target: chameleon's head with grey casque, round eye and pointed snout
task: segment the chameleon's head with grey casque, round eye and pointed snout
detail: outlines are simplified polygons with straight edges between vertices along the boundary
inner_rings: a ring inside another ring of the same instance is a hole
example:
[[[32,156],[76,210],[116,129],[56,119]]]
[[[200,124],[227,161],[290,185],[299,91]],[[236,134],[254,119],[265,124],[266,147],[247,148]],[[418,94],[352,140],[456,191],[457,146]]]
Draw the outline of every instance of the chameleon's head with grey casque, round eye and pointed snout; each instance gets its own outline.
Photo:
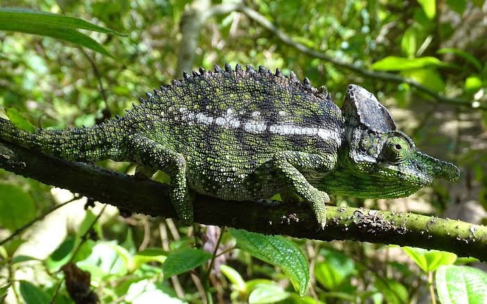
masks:
[[[421,153],[406,134],[396,130],[389,111],[375,96],[358,85],[349,85],[342,113],[346,121],[347,167],[361,186],[358,197],[408,196],[434,178],[455,181],[459,169]]]

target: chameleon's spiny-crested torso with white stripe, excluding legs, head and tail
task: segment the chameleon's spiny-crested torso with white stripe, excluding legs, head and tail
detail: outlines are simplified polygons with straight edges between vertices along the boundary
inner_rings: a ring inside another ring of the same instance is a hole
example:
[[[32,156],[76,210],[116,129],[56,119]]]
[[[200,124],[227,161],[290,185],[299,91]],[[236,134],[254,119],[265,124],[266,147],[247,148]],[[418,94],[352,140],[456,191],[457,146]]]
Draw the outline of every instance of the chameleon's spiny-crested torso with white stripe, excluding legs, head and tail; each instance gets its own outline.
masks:
[[[200,71],[148,94],[129,112],[147,118],[133,130],[184,155],[191,188],[223,199],[262,199],[281,185],[264,169],[276,151],[338,150],[343,118],[323,87],[263,67]]]

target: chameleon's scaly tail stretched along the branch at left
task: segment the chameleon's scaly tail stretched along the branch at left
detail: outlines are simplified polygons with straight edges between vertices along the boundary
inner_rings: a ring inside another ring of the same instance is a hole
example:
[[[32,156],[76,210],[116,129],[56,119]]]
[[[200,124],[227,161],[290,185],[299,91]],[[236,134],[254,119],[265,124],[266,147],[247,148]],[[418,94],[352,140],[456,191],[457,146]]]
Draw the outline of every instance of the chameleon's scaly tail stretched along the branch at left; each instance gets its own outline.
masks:
[[[0,118],[0,140],[66,160],[119,160],[122,155],[122,134],[122,130],[118,130],[113,122],[69,130],[38,128],[35,133],[30,133]]]

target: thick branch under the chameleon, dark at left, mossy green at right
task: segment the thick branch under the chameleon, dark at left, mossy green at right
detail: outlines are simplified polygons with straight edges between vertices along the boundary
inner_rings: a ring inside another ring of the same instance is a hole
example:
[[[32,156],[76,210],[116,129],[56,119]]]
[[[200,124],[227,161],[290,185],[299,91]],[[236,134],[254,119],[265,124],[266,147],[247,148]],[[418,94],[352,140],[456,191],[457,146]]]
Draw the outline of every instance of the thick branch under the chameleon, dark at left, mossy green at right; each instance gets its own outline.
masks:
[[[152,180],[134,178],[92,164],[60,160],[2,142],[0,168],[123,210],[176,217],[166,185]],[[327,228],[323,231],[317,227],[313,213],[306,205],[224,201],[204,195],[195,198],[195,221],[206,225],[323,241],[351,239],[415,246],[487,261],[486,226],[407,212],[343,207],[327,210]]]

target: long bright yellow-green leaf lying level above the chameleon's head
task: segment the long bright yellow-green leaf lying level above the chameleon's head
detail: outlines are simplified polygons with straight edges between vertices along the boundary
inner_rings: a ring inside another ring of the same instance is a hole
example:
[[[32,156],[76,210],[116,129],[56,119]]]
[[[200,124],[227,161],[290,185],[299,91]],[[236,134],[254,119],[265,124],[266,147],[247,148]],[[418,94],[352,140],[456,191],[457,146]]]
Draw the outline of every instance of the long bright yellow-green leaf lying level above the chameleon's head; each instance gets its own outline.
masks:
[[[438,67],[441,60],[435,57],[404,58],[387,56],[372,64],[372,69],[379,71],[404,71],[406,69],[418,69],[420,67]]]

